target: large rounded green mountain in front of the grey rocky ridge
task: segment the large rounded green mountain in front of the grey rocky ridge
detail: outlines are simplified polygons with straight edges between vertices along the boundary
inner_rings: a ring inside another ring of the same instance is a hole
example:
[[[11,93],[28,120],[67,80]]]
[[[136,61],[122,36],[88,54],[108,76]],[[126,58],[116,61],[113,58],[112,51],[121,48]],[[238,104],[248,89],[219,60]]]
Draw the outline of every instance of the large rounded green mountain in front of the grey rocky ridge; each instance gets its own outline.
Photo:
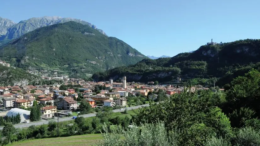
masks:
[[[0,58],[26,70],[55,69],[81,76],[146,57],[115,37],[70,21],[38,28],[1,46]]]

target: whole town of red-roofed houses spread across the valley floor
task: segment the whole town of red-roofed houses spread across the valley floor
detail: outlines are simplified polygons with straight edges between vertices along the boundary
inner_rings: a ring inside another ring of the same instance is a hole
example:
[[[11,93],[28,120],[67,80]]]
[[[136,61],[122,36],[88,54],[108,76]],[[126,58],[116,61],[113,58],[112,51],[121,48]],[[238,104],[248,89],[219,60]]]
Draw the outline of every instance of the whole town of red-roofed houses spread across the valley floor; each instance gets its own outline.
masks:
[[[174,87],[171,85],[153,86],[149,85],[127,83],[126,77],[123,78],[122,83],[113,82],[113,80],[106,82],[93,82],[93,81],[74,81],[70,84],[80,84],[79,88],[82,100],[87,101],[93,108],[97,105],[100,106],[127,106],[128,96],[145,96],[149,92],[158,91],[162,89],[166,95],[170,97],[175,93],[184,91],[184,87]],[[67,85],[65,83],[65,85]],[[105,90],[100,90],[98,94],[94,93],[95,86],[105,87]],[[0,106],[5,109],[20,108],[27,109],[33,106],[34,102],[43,104],[42,114],[45,117],[53,117],[57,113],[57,109],[75,110],[78,108],[79,103],[75,100],[78,98],[78,93],[74,89],[59,90],[59,85],[38,85],[38,86],[13,86],[13,87],[0,87]],[[191,87],[189,90],[208,90],[202,86]],[[223,89],[220,89],[223,90]],[[110,92],[109,92],[110,91]],[[111,92],[112,91],[112,92]],[[213,91],[217,92],[217,91]],[[148,97],[155,100],[158,95],[152,94]]]

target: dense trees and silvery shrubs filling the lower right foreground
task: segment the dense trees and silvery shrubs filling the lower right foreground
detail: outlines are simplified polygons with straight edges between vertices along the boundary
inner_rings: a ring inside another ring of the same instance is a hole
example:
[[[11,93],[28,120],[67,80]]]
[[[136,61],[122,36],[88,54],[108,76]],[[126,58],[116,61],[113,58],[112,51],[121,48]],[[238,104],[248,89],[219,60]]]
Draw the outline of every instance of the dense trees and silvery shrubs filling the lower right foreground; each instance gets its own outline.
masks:
[[[106,130],[103,145],[260,145],[260,72],[234,79],[224,99],[208,91],[175,94],[133,116],[133,126]],[[119,135],[125,140],[119,140]]]

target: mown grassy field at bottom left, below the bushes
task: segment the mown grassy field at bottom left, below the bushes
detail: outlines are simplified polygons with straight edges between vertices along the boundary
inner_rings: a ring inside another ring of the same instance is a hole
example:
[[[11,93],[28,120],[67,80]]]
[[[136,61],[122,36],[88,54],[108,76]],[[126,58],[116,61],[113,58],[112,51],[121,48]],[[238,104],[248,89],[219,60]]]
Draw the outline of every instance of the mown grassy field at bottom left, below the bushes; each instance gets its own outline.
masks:
[[[25,140],[8,144],[7,146],[82,146],[99,143],[101,139],[103,139],[101,134],[85,134],[70,137]]]

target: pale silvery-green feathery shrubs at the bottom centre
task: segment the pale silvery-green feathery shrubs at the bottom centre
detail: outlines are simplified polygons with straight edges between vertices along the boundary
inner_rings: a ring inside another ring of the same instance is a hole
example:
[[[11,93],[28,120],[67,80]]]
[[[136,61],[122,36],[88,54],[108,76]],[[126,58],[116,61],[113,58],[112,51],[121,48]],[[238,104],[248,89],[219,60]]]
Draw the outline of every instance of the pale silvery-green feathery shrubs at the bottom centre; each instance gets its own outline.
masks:
[[[129,145],[149,145],[149,146],[177,146],[177,136],[174,132],[169,133],[168,138],[167,131],[163,123],[156,124],[143,124],[141,127],[133,126],[123,132],[124,140],[121,140],[121,133],[119,130],[110,132],[106,125],[103,126],[104,138],[101,146],[129,146]],[[140,130],[141,129],[141,130]],[[118,132],[119,131],[119,132]]]

